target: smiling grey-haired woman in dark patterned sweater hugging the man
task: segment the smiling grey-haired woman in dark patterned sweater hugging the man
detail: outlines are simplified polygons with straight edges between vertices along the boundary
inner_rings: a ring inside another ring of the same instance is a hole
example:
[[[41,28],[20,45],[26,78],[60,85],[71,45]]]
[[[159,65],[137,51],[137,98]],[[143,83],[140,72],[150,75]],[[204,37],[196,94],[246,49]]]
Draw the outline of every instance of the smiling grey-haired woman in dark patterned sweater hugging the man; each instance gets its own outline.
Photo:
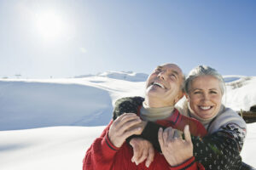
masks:
[[[173,129],[169,127],[164,132],[160,129],[158,133],[159,127],[162,126],[148,123],[140,137],[150,141],[155,148],[161,148],[168,162],[177,158],[186,160],[193,154],[195,160],[200,161],[206,169],[246,169],[239,155],[246,136],[246,123],[236,111],[222,105],[224,80],[221,75],[211,67],[200,65],[190,71],[184,91],[187,100],[177,109],[183,115],[199,120],[206,127],[207,136],[192,136],[193,145],[188,142],[189,146],[182,149],[177,147],[178,143],[184,143],[186,140],[175,138],[176,133]],[[117,111],[122,110],[119,108]],[[157,138],[160,144],[156,142]],[[192,154],[180,154],[180,150],[188,150],[189,147],[192,147]],[[177,153],[178,156],[173,153]]]

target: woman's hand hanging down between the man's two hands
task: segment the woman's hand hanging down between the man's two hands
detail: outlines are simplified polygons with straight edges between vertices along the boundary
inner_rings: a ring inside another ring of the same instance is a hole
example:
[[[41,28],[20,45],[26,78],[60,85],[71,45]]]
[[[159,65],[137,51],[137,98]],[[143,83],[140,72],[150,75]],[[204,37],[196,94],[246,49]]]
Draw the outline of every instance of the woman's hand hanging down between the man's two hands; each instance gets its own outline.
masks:
[[[141,138],[133,138],[130,141],[130,144],[133,148],[133,156],[131,158],[132,162],[135,162],[136,165],[143,162],[145,159],[146,167],[149,167],[151,162],[154,160],[154,147],[148,142],[148,140]]]

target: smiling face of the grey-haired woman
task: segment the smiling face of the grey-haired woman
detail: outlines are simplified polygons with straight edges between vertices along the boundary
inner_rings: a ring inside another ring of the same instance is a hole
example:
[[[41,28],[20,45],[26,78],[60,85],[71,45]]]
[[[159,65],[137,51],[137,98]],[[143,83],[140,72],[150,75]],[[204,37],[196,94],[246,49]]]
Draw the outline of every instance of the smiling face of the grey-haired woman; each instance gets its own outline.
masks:
[[[195,115],[209,119],[218,113],[222,95],[217,78],[201,76],[191,82],[189,95],[186,96]]]

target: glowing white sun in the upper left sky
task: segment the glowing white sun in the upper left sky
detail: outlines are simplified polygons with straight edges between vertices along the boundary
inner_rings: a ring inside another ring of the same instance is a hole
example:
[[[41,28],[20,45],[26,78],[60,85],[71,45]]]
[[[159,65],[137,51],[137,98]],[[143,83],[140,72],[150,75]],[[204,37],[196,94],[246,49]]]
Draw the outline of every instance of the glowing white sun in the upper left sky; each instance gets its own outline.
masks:
[[[54,41],[65,35],[67,26],[60,14],[53,11],[36,14],[38,35],[46,41]]]

